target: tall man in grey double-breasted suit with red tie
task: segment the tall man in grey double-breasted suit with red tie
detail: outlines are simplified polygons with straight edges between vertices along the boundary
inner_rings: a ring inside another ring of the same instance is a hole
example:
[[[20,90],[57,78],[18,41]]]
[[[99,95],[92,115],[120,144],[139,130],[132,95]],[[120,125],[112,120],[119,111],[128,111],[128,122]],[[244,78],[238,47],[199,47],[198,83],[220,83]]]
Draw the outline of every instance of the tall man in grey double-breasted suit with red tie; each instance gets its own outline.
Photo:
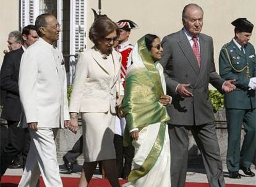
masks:
[[[191,130],[203,156],[210,186],[225,186],[215,118],[208,98],[209,82],[216,89],[231,92],[235,86],[215,71],[213,40],[201,34],[203,10],[188,4],[182,12],[184,28],[163,38],[161,65],[166,76],[167,94],[173,97],[168,107],[171,117],[171,186],[184,187]]]

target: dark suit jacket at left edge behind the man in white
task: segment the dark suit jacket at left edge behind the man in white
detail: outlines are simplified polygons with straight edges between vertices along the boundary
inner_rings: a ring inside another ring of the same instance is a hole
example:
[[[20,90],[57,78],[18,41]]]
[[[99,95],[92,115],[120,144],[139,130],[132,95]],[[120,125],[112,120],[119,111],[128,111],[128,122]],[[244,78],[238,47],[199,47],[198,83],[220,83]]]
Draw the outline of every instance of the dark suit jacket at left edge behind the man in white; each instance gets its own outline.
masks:
[[[23,49],[13,50],[4,56],[0,71],[2,114],[9,121],[19,121],[22,107],[19,97],[19,70]]]

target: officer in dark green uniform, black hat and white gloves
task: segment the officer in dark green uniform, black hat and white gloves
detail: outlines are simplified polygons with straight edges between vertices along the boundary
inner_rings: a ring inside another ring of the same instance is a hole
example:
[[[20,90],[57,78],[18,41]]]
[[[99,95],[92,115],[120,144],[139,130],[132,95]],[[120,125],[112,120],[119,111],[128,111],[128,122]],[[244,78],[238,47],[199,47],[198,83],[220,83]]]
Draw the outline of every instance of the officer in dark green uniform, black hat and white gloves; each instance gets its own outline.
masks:
[[[254,177],[250,165],[256,148],[256,58],[254,46],[249,43],[254,25],[246,18],[237,18],[231,24],[235,26],[234,38],[222,47],[219,58],[221,77],[236,79],[237,87],[224,95],[228,121],[226,163],[230,178],[241,178],[239,169]],[[240,150],[242,124],[246,134]]]

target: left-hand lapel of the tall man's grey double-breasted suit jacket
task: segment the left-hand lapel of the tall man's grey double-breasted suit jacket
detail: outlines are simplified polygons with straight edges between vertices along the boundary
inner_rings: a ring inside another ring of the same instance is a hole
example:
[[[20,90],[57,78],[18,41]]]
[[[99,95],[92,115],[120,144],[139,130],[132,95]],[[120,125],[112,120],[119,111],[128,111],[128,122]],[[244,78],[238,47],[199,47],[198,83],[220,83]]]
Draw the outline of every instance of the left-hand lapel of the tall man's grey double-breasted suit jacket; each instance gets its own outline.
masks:
[[[199,73],[199,67],[197,63],[197,58],[195,58],[194,52],[192,50],[192,47],[190,46],[190,43],[187,39],[186,34],[183,30],[179,31],[179,41],[178,41],[179,47],[181,47],[181,50],[185,57],[187,58],[187,61],[192,66],[193,70],[196,74]]]

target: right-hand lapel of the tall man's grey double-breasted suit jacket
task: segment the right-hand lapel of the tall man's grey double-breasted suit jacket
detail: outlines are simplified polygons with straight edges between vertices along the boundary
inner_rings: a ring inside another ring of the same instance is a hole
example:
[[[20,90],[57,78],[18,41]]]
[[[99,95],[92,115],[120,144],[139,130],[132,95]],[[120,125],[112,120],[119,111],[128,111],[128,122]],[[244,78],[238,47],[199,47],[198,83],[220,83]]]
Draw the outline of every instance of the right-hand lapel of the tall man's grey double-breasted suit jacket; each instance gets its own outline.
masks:
[[[197,78],[197,83],[195,86],[197,86],[198,81],[202,79],[202,76],[205,73],[205,70],[207,70],[207,56],[211,55],[210,51],[207,51],[207,41],[205,38],[202,37],[202,34],[199,34],[199,44],[200,44],[200,55],[201,55],[201,64],[200,64],[200,69],[199,69],[199,75]]]

